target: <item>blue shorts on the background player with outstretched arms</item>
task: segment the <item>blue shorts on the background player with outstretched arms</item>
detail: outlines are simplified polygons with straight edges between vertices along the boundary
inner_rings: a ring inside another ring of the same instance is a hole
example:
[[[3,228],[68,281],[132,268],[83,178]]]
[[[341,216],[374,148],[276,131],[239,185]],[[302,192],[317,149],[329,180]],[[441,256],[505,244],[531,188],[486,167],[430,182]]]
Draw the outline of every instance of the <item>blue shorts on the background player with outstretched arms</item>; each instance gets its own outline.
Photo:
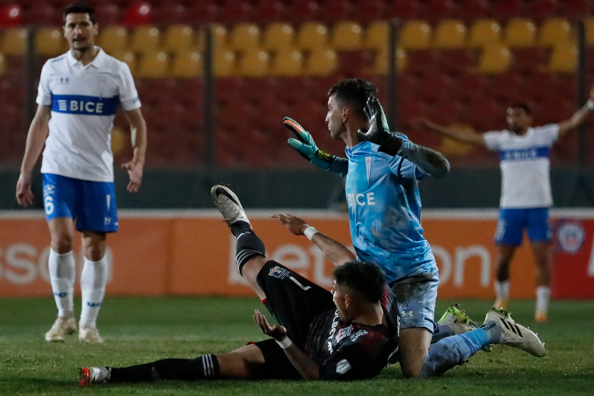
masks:
[[[495,243],[520,246],[524,229],[528,232],[530,242],[551,242],[549,208],[501,209]]]

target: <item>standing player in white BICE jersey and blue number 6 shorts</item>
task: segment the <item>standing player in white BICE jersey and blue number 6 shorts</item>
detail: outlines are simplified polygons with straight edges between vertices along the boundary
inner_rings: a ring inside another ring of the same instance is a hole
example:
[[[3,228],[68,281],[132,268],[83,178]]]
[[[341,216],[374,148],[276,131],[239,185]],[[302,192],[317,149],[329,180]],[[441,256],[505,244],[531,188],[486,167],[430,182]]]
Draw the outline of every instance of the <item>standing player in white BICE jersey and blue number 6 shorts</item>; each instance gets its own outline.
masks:
[[[106,233],[118,230],[110,147],[113,118],[122,107],[131,126],[134,156],[128,191],[136,192],[143,176],[146,123],[128,66],[94,45],[99,26],[93,8],[74,4],[64,12],[64,37],[70,49],[43,66],[37,112],[31,122],[17,201],[33,202],[31,172],[43,150],[43,202],[51,236],[49,275],[58,318],[47,341],[64,341],[77,330],[74,320],[74,229],[82,234],[83,299],[78,338],[101,343],[96,321],[108,280]],[[135,138],[134,138],[135,135]]]

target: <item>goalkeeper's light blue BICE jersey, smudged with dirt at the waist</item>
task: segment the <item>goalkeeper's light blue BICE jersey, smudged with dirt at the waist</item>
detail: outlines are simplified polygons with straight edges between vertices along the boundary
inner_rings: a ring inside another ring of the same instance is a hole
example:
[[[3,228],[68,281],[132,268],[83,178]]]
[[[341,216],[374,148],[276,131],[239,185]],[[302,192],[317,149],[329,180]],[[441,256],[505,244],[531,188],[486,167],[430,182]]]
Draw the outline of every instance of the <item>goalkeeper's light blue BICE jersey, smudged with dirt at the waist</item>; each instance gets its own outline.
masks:
[[[391,284],[437,265],[421,227],[418,180],[426,175],[411,161],[378,148],[368,141],[346,148],[345,192],[355,251],[383,268]]]

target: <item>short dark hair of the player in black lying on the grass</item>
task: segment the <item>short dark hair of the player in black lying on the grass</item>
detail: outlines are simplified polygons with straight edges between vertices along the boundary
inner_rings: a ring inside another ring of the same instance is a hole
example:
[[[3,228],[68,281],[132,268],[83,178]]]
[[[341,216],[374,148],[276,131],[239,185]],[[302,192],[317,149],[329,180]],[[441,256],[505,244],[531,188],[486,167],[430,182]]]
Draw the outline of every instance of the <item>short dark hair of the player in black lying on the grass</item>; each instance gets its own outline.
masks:
[[[339,286],[347,286],[361,293],[372,303],[380,301],[386,290],[386,280],[380,268],[370,262],[349,261],[334,268],[332,275]]]

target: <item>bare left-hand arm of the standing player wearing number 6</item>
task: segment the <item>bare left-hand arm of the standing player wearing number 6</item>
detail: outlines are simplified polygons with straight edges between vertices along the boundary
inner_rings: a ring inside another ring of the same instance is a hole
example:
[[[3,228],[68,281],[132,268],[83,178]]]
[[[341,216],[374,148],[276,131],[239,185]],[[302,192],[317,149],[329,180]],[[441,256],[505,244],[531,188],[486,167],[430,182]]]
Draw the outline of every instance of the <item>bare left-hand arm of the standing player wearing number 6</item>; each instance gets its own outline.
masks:
[[[43,142],[48,137],[49,119],[51,116],[52,106],[39,104],[31,126],[29,126],[25,154],[23,156],[23,163],[21,163],[21,173],[18,176],[17,182],[17,202],[23,207],[33,204],[34,195],[31,192],[31,172],[37,159],[39,159]]]

